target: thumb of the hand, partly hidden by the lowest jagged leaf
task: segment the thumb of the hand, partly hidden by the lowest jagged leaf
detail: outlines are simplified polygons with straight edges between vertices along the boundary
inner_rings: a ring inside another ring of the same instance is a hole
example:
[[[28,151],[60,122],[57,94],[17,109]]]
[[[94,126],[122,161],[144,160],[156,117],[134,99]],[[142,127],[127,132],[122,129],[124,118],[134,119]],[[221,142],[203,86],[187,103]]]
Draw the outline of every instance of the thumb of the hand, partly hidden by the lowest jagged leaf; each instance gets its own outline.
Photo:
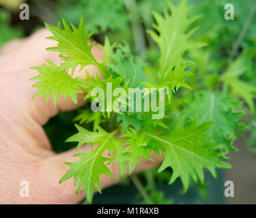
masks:
[[[83,146],[80,152],[89,151],[90,146]],[[68,181],[59,184],[60,178],[69,169],[69,167],[63,164],[63,162],[74,162],[79,160],[79,157],[72,157],[74,153],[76,153],[76,149],[72,149],[70,151],[66,151],[65,153],[50,157],[42,163],[42,168],[40,168],[40,170],[43,170],[43,172],[40,172],[39,175],[44,175],[43,178],[41,178],[43,180],[42,183],[47,183],[44,184],[44,186],[47,187],[44,192],[49,192],[49,190],[51,190],[51,197],[49,196],[49,198],[42,203],[76,204],[85,198],[85,192],[77,194],[75,193],[76,187],[74,186],[73,177],[68,179]],[[155,161],[149,161],[147,159],[141,158],[141,164],[134,168],[134,173],[154,168],[160,164],[160,158],[156,157],[156,155],[152,155],[152,158],[154,158]],[[108,167],[111,170],[114,178],[110,178],[109,176],[103,174],[103,176],[100,178],[100,186],[102,189],[109,187],[110,185],[114,185],[120,181],[119,168],[117,163],[112,163]],[[128,176],[127,173],[126,176]]]

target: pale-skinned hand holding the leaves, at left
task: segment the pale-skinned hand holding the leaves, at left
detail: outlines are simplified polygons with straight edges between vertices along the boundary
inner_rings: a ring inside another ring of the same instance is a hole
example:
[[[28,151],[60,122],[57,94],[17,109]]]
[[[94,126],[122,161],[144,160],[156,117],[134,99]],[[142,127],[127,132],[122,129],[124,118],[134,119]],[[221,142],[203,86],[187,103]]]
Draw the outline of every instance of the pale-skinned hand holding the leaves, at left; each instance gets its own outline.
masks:
[[[42,125],[59,111],[75,110],[83,105],[82,95],[76,105],[70,99],[59,99],[57,107],[50,98],[46,104],[44,96],[33,98],[37,89],[30,78],[38,72],[30,67],[46,63],[49,59],[61,63],[58,53],[46,51],[56,42],[46,40],[50,36],[46,29],[23,40],[9,42],[0,53],[0,204],[76,204],[85,198],[85,193],[75,193],[73,178],[59,184],[59,179],[69,169],[64,162],[77,161],[72,157],[76,149],[56,154],[51,150]],[[94,56],[103,59],[102,50],[94,46]],[[87,66],[94,74],[96,68]],[[76,71],[75,76],[78,76]],[[79,73],[79,76],[83,72]],[[64,142],[63,142],[64,143]],[[80,152],[89,152],[82,146]],[[156,161],[141,159],[135,172],[153,168]],[[109,165],[114,178],[102,176],[102,189],[118,183],[119,170],[116,163]],[[20,181],[29,182],[29,197],[20,197]]]

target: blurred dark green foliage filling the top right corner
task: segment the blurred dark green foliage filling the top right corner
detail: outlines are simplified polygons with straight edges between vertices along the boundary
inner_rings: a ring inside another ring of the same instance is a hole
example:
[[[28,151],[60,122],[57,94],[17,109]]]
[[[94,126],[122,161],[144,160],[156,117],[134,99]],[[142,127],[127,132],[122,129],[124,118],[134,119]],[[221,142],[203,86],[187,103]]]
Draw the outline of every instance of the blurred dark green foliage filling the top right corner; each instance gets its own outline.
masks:
[[[248,0],[246,3],[243,3],[243,1],[240,0],[193,0],[193,2],[197,3],[197,6],[193,7],[192,13],[195,15],[201,14],[201,16],[203,16],[203,19],[199,19],[195,22],[195,26],[199,25],[201,27],[199,31],[195,33],[195,37],[208,41],[215,52],[223,53],[223,50],[225,50],[225,52],[231,52],[231,45],[235,44],[255,1]],[[223,10],[223,7],[227,3],[233,4],[236,11],[232,22],[227,22],[227,20],[223,19],[223,12],[226,11]],[[253,46],[251,42],[255,40],[255,24],[256,18],[253,16],[251,25],[244,35],[242,46]]]

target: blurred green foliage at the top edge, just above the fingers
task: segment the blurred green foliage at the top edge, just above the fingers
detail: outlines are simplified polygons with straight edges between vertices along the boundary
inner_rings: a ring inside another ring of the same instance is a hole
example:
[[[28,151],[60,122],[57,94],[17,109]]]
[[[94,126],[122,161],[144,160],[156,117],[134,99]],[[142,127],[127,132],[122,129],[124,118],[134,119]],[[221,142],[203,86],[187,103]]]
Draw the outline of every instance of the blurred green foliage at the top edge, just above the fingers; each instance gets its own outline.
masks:
[[[123,1],[80,0],[74,3],[73,0],[68,0],[66,3],[68,4],[59,9],[59,17],[61,18],[76,22],[83,15],[87,27],[94,33],[104,33],[108,30],[126,31],[128,14],[125,12]],[[97,16],[95,12],[97,12]]]

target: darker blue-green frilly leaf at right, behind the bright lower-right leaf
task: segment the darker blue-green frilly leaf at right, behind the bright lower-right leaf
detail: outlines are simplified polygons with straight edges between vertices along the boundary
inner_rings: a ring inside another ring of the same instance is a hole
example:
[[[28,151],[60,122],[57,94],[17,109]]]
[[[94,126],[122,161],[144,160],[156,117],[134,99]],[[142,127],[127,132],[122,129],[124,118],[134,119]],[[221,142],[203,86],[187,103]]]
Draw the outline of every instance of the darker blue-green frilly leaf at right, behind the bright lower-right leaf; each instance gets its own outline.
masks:
[[[207,134],[217,143],[224,144],[229,151],[236,151],[232,146],[236,140],[236,130],[244,129],[240,125],[242,112],[234,112],[240,108],[241,102],[228,95],[224,91],[198,91],[189,97],[190,102],[185,105],[183,114],[190,120],[195,119],[199,124],[213,121],[213,125],[208,129]]]

